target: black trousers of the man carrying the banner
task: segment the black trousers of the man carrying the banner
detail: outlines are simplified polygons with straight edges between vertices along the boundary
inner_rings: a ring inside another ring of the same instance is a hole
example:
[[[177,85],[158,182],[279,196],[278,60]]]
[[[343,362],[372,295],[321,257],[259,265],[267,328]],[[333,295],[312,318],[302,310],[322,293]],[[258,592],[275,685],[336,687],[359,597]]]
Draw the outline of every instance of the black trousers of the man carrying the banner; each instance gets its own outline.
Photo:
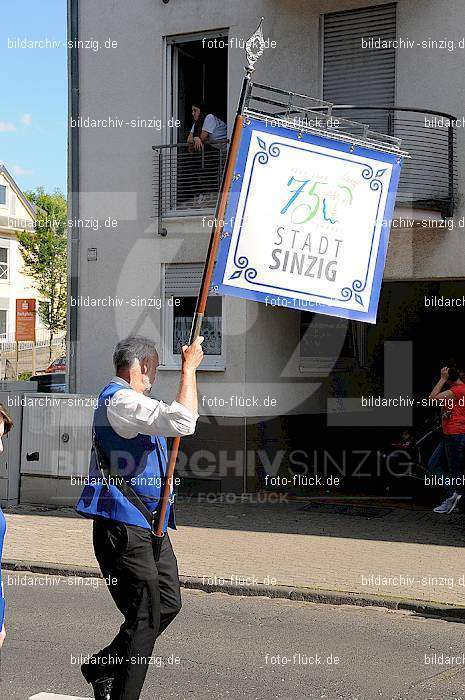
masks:
[[[138,700],[155,640],[181,609],[176,557],[165,534],[155,563],[150,531],[115,520],[94,520],[93,541],[124,622],[82,672],[88,682],[112,676],[112,700]]]

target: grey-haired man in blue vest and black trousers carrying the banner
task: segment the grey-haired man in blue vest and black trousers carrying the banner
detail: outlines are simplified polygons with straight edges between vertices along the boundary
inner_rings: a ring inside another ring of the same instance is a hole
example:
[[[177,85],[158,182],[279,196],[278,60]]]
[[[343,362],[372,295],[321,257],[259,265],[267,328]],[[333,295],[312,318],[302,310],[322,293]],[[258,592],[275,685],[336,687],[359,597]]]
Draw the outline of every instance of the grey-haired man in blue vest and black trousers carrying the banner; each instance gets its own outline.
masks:
[[[182,348],[179,390],[167,404],[148,396],[157,374],[155,343],[140,336],[122,340],[113,354],[116,374],[98,398],[89,477],[76,510],[94,521],[95,556],[124,616],[113,641],[81,666],[99,700],[140,697],[155,640],[181,609],[167,533],[175,528],[173,491],[160,551],[152,533],[166,473],[165,438],[195,431],[202,342],[199,337]]]

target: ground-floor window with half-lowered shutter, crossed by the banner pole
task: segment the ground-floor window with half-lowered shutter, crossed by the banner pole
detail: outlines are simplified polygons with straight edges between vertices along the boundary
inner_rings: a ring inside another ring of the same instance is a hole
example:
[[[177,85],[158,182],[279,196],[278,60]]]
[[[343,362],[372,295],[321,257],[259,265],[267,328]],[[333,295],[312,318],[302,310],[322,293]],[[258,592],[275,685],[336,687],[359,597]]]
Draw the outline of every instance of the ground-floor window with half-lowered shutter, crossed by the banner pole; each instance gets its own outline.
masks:
[[[202,272],[203,265],[198,263],[165,265],[163,365],[166,367],[181,365],[181,348],[189,340]],[[211,294],[207,300],[202,323],[203,369],[224,369],[222,303],[218,294]]]

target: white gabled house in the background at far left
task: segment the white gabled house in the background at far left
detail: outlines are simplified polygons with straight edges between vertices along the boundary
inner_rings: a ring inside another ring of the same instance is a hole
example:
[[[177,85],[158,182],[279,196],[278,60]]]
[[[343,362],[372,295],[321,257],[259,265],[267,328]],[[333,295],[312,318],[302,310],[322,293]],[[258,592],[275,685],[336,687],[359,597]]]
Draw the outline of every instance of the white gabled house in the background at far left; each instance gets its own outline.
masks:
[[[14,340],[16,299],[36,299],[40,294],[33,280],[23,273],[23,258],[16,231],[34,228],[36,208],[0,164],[0,340]],[[38,314],[37,331],[43,329]]]

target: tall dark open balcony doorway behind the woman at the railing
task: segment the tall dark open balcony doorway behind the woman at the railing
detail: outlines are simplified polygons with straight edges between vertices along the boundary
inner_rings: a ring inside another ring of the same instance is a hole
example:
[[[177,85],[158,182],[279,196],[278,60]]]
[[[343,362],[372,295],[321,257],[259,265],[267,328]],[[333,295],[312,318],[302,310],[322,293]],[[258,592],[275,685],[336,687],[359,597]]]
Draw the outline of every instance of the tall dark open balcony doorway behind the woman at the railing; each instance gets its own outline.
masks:
[[[160,152],[159,207],[164,211],[213,209],[226,161],[228,40],[224,31],[166,40],[166,123],[178,120]],[[187,139],[194,127],[192,105],[215,116],[215,142],[193,151]]]

